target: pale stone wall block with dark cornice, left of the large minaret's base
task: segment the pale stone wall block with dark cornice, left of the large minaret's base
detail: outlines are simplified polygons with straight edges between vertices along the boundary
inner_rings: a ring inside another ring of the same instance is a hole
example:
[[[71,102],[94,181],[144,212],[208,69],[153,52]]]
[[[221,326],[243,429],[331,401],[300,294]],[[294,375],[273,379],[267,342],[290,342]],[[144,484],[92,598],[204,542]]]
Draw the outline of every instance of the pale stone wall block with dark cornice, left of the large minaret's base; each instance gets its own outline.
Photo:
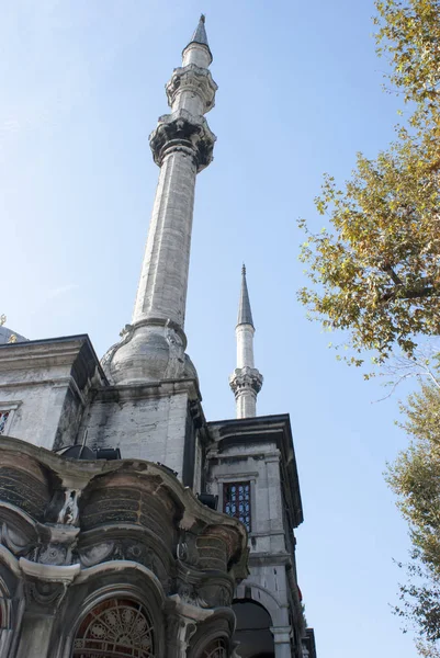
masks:
[[[75,443],[92,386],[102,382],[88,337],[1,345],[0,405],[8,434],[57,450]]]

